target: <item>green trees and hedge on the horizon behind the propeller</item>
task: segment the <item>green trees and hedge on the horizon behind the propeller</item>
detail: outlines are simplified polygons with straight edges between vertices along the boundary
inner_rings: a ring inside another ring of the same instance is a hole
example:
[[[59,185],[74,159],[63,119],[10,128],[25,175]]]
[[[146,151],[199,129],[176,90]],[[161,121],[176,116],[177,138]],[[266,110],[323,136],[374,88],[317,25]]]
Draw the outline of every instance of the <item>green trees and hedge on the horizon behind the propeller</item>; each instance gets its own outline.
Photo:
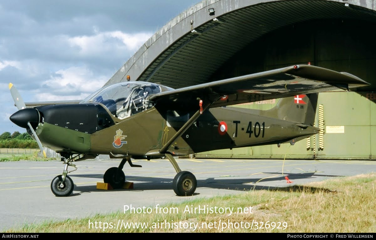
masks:
[[[0,135],[0,148],[38,148],[38,143],[28,133],[4,132]]]

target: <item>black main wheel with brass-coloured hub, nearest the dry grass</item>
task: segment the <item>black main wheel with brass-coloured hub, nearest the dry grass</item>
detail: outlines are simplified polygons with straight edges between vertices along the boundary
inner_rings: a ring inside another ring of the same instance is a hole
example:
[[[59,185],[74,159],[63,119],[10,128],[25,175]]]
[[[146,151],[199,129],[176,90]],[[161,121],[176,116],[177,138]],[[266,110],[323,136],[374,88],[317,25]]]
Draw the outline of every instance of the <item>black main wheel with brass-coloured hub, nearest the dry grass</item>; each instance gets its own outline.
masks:
[[[196,191],[196,177],[188,171],[181,171],[174,177],[172,182],[174,192],[178,196],[191,196]]]

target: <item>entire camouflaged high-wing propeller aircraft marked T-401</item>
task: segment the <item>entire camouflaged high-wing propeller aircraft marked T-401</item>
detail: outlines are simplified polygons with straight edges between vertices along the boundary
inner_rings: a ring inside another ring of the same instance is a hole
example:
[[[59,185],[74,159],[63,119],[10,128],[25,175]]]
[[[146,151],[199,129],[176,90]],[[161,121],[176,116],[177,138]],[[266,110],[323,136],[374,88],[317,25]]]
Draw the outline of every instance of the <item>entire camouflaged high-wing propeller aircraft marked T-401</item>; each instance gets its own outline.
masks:
[[[29,103],[9,89],[18,111],[10,120],[64,161],[64,171],[51,182],[56,196],[68,196],[73,162],[107,154],[121,158],[109,168],[105,183],[114,189],[125,182],[123,166],[133,159],[166,157],[177,174],[173,190],[192,195],[196,177],[181,171],[174,157],[215,149],[290,143],[319,132],[313,127],[318,92],[366,86],[346,72],[312,65],[294,65],[240,77],[172,89],[151,82],[120,82],[105,86],[80,102]],[[228,107],[281,98],[270,110]]]

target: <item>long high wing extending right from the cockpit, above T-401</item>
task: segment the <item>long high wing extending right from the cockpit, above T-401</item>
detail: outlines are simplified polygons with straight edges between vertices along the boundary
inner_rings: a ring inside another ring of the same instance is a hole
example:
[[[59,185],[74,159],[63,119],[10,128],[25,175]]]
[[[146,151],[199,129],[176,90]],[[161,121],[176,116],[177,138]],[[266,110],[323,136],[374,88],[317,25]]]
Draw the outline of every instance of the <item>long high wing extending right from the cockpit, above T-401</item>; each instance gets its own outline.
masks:
[[[370,85],[347,72],[312,65],[294,65],[240,77],[161,92],[150,97],[156,107],[197,109],[199,100],[209,107],[284,98]]]

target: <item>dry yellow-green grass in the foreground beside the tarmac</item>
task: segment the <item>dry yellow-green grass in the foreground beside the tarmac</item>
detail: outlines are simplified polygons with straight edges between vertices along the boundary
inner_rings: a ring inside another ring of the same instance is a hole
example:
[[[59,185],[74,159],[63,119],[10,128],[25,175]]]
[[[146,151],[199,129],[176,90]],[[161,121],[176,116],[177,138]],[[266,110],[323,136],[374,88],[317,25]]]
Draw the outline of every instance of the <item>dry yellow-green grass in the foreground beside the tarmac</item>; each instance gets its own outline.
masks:
[[[156,206],[150,206],[152,210],[150,214],[128,212],[97,214],[77,220],[24,225],[22,228],[8,229],[6,232],[371,233],[376,231],[375,194],[376,174],[362,174],[304,186],[251,190],[238,195],[171,203],[159,206],[161,213],[156,210]],[[197,209],[195,213],[194,208],[199,206],[209,208],[209,213],[202,211],[198,213]],[[232,208],[233,211],[231,214],[229,211],[215,213],[215,207],[217,212],[219,209],[224,211],[226,208]],[[214,212],[212,213],[211,210]],[[122,221],[123,224],[118,224]],[[253,228],[250,229],[252,222]],[[140,223],[144,226],[125,226],[126,223]],[[103,229],[103,227],[107,228]]]

